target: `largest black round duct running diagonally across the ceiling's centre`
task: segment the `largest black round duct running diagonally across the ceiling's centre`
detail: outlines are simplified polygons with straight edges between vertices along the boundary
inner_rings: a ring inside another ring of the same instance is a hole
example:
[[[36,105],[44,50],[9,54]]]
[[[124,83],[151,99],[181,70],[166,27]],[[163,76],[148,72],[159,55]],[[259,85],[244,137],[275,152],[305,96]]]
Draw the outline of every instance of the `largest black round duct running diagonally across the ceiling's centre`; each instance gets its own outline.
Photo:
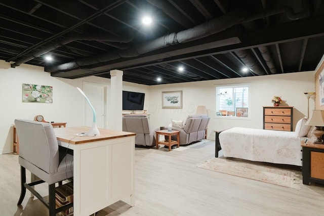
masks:
[[[89,58],[78,59],[72,62],[61,64],[58,66],[46,68],[48,72],[56,72],[58,70],[70,70],[78,66],[97,64],[107,62],[118,58],[136,57],[144,53],[148,53],[161,48],[177,45],[192,40],[207,37],[209,35],[224,31],[225,29],[238,24],[246,17],[246,11],[242,9],[234,9],[219,18],[212,19],[203,24],[180,31],[178,33],[171,33],[165,36],[153,39],[145,44],[135,46],[125,51],[114,51],[111,53],[101,54]]]

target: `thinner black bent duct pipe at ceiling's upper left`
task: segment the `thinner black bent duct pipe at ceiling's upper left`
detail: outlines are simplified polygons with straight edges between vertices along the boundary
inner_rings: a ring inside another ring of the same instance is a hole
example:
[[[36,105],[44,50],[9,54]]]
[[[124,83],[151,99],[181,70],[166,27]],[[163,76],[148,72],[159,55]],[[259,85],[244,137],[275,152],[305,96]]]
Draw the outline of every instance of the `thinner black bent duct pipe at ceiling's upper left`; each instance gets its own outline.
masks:
[[[22,59],[16,61],[15,63],[12,63],[11,67],[15,68],[25,62],[32,60],[33,58],[36,58],[36,57],[41,56],[45,53],[48,53],[52,50],[55,50],[58,47],[62,47],[66,44],[69,44],[70,42],[75,41],[75,40],[98,40],[98,41],[125,42],[126,43],[126,42],[132,41],[132,39],[133,39],[133,36],[131,36],[131,34],[130,34],[130,36],[126,36],[126,37],[115,36],[115,35],[104,35],[104,34],[101,34],[101,35],[73,34],[68,37],[58,39],[55,42],[53,42],[53,44],[31,54],[31,56],[27,56],[25,58],[22,58]]]

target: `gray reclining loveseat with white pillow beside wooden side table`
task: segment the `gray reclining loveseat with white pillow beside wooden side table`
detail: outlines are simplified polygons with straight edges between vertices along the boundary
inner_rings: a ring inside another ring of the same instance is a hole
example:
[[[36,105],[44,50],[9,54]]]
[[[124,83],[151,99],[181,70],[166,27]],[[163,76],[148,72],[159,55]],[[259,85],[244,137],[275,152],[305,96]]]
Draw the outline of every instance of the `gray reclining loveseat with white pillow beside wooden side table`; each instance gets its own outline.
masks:
[[[211,117],[208,115],[189,115],[184,123],[172,120],[172,130],[180,131],[180,145],[205,139],[210,119]],[[177,140],[176,136],[173,136],[172,139]]]

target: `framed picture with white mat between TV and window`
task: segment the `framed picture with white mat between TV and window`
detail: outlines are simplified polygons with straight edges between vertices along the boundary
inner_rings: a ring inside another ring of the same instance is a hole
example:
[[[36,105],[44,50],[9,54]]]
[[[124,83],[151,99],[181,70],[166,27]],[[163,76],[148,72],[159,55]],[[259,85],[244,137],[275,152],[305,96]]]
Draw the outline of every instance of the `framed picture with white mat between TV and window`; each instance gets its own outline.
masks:
[[[162,109],[182,109],[182,91],[162,92]]]

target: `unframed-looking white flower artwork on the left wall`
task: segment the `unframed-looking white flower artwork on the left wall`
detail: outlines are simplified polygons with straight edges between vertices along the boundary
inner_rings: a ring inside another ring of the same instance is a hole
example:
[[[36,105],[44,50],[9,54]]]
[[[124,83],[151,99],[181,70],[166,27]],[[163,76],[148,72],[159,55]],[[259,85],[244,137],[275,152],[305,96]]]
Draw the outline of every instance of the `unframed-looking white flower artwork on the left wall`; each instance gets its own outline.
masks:
[[[22,84],[22,102],[53,103],[53,87],[49,85]]]

